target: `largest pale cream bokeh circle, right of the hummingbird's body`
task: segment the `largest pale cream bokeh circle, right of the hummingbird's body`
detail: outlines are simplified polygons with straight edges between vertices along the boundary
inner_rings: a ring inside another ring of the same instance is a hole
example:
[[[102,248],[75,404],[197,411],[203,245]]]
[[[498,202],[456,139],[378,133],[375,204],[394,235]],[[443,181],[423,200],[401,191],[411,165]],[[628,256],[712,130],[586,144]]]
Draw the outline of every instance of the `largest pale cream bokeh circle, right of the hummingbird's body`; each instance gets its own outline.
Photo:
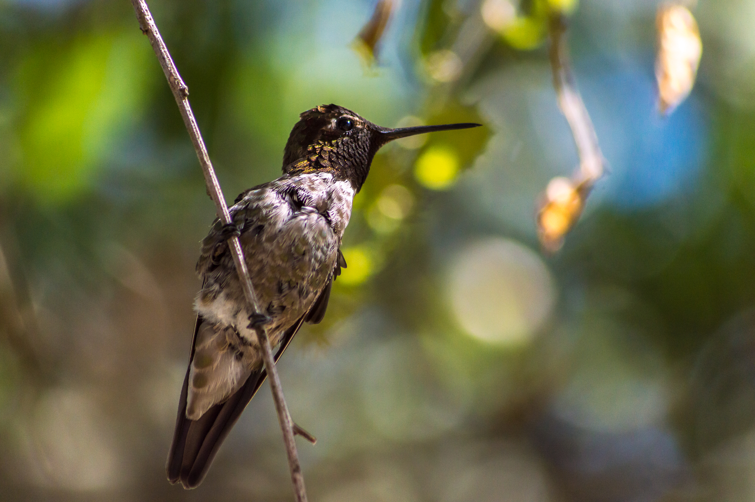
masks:
[[[451,261],[448,295],[464,331],[489,343],[526,343],[550,316],[556,288],[543,260],[510,239],[473,242]]]

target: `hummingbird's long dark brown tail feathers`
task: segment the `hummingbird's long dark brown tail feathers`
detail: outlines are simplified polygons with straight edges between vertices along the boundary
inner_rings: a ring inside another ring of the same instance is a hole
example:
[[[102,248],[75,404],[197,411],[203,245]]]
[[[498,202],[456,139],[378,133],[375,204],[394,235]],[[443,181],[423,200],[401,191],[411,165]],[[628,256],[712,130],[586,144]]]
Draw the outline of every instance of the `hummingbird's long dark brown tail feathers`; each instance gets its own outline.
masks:
[[[283,351],[291,342],[302,322],[302,316],[291,328],[285,331],[281,339],[280,347],[275,355],[276,362]],[[202,317],[197,316],[194,328],[194,339],[190,356],[189,369],[186,370],[186,378],[183,380],[180,400],[178,402],[178,416],[176,418],[176,430],[173,436],[171,451],[168,453],[168,463],[165,470],[168,473],[168,481],[172,484],[181,482],[183,488],[196,488],[205,479],[205,475],[217,454],[217,448],[226,439],[231,428],[239,420],[239,417],[249,404],[251,398],[257,393],[267,377],[267,371],[260,368],[253,371],[244,385],[233,393],[226,401],[212,406],[199,417],[199,420],[186,418],[186,397],[188,396],[189,372],[191,360],[194,357],[194,345],[196,335],[202,325]]]

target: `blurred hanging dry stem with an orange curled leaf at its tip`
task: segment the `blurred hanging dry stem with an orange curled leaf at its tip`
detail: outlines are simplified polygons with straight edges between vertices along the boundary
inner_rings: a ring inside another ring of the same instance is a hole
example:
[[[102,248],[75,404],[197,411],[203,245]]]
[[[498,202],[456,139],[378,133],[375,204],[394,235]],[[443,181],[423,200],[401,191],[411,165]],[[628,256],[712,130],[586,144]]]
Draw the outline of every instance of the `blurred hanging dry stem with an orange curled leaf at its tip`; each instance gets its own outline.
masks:
[[[572,128],[579,156],[579,171],[571,180],[555,177],[548,183],[538,210],[538,234],[547,251],[557,251],[566,233],[579,219],[590,190],[605,171],[605,162],[598,144],[590,114],[577,90],[569,65],[569,48],[565,43],[565,16],[550,14],[550,67],[553,88],[558,95],[559,108]]]

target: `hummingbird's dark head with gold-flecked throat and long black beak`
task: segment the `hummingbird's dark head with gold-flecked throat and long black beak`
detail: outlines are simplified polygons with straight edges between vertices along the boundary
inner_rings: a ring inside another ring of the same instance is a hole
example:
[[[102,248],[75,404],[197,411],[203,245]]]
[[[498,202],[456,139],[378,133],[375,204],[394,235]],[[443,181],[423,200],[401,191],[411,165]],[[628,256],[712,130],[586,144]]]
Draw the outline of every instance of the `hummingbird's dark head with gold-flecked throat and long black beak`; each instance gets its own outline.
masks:
[[[422,125],[390,129],[334,104],[320,105],[299,115],[283,153],[287,174],[327,171],[337,179],[349,180],[359,192],[367,179],[378,149],[400,137],[433,131],[474,128],[479,124]]]

